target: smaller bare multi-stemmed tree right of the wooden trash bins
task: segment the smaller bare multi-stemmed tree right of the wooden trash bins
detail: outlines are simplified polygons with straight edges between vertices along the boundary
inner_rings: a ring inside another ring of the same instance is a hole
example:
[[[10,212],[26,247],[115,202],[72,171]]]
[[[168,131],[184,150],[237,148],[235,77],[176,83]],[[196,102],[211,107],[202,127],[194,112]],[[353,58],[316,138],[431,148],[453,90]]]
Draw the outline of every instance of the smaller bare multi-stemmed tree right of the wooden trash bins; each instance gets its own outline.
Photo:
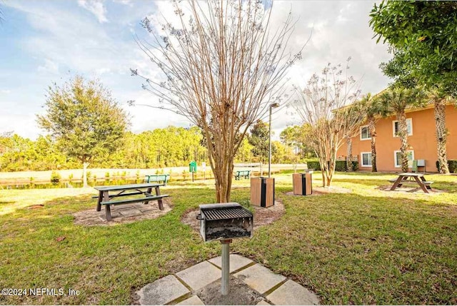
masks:
[[[348,58],[350,61],[351,58]],[[330,186],[335,173],[336,151],[346,139],[358,132],[365,113],[362,105],[353,105],[360,95],[358,83],[343,71],[341,64],[323,68],[316,73],[304,90],[298,90],[294,104],[298,115],[311,126],[310,145],[318,155],[322,170],[322,184]]]

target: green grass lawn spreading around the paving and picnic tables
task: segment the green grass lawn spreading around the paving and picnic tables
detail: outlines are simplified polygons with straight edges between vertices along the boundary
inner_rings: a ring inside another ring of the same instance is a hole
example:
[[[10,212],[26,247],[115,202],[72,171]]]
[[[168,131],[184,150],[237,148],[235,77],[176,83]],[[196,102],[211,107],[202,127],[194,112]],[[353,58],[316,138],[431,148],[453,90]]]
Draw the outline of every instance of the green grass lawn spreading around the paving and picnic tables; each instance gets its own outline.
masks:
[[[320,176],[314,173],[314,185]],[[305,285],[324,304],[456,304],[457,177],[427,175],[446,191],[429,195],[378,190],[388,178],[338,173],[333,184],[351,193],[300,197],[285,194],[291,174],[276,175],[286,214],[231,249]],[[109,227],[74,225],[71,213],[95,209],[94,189],[0,190],[0,289],[80,292],[0,295],[0,304],[129,304],[147,283],[219,255],[219,243],[203,243],[180,222],[186,210],[214,202],[213,184],[169,185],[170,213]],[[248,180],[234,184],[231,200],[246,203]],[[36,204],[44,207],[27,208]]]

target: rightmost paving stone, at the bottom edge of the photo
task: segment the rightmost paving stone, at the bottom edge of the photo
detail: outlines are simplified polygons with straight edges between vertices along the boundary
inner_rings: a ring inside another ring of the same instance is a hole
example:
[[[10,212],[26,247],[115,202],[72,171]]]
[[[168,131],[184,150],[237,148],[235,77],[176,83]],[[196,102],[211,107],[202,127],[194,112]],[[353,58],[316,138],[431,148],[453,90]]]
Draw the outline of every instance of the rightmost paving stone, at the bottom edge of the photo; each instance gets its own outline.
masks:
[[[266,298],[275,305],[319,305],[317,295],[293,280],[284,282]]]

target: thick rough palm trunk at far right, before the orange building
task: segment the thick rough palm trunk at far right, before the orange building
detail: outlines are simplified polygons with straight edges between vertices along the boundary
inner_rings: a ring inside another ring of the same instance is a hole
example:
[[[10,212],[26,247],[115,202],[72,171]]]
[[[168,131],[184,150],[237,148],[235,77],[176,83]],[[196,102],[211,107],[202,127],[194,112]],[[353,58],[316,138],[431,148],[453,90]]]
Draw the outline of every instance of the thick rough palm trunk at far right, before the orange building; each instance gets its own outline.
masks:
[[[446,152],[446,100],[435,99],[436,148],[438,150],[438,171],[448,174],[448,157]]]

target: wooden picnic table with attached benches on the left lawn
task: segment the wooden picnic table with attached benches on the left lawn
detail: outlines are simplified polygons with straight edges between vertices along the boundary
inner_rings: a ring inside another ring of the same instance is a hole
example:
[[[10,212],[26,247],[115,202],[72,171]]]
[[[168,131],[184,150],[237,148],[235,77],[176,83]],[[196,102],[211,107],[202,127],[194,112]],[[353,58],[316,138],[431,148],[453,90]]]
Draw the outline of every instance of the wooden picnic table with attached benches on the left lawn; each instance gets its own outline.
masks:
[[[164,203],[162,198],[166,198],[169,195],[161,195],[160,186],[164,184],[159,183],[141,183],[141,184],[129,184],[129,185],[110,185],[110,186],[96,186],[94,187],[99,191],[97,200],[97,211],[101,210],[101,205],[105,206],[106,220],[111,220],[111,208],[110,205],[121,205],[129,203],[149,203],[151,200],[157,200],[159,203],[159,209],[164,210]],[[156,194],[152,194],[154,188]],[[111,194],[110,194],[111,193]],[[114,198],[131,196],[131,195],[144,195],[139,198],[129,198],[126,200],[112,200]]]

